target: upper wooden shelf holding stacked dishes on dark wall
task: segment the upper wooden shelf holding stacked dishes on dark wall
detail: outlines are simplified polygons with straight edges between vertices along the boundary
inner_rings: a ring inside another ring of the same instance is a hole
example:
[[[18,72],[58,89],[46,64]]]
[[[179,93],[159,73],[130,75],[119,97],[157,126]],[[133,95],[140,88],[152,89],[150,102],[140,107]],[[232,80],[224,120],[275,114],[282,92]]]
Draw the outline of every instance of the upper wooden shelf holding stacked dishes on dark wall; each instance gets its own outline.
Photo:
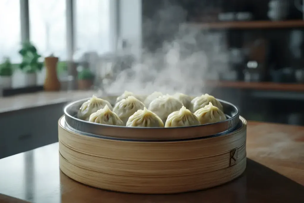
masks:
[[[190,26],[196,26],[203,29],[257,29],[257,28],[290,28],[304,27],[303,20],[287,21],[235,21],[235,22],[214,22],[214,23],[187,23]]]

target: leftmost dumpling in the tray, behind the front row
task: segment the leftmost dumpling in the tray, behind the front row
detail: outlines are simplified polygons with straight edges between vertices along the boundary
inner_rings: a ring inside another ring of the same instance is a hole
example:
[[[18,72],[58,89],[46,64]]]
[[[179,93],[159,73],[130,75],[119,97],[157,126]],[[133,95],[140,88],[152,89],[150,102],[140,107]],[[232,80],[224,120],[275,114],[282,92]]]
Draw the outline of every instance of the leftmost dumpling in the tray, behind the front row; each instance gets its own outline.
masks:
[[[88,121],[92,113],[95,113],[97,110],[102,109],[105,107],[105,105],[108,105],[109,109],[112,110],[112,106],[108,101],[100,99],[93,95],[91,99],[81,105],[78,110],[77,117],[81,120]]]

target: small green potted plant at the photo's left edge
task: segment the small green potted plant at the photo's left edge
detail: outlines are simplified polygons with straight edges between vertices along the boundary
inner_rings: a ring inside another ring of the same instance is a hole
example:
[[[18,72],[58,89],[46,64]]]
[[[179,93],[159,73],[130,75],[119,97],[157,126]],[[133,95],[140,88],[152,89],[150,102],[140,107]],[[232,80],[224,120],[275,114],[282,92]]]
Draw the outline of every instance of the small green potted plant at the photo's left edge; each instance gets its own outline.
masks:
[[[13,67],[9,58],[4,58],[0,64],[0,86],[2,88],[12,87]]]

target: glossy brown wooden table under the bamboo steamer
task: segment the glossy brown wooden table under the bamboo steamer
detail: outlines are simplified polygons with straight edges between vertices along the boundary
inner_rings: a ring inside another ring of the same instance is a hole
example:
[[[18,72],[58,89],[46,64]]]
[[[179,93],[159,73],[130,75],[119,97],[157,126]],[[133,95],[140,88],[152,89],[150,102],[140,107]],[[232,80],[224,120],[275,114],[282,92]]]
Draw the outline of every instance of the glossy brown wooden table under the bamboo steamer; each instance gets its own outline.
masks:
[[[303,185],[304,127],[258,122],[248,122],[245,173],[205,191],[143,195],[88,187],[60,172],[58,143],[0,160],[0,202],[303,203]]]

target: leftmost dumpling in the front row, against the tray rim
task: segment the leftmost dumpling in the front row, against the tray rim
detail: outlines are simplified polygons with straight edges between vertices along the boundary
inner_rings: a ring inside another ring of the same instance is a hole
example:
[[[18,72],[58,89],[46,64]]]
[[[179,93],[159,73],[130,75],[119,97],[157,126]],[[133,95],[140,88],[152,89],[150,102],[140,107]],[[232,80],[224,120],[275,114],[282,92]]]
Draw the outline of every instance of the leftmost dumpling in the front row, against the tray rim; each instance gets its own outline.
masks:
[[[119,125],[123,126],[123,121],[110,110],[108,105],[105,105],[103,109],[99,109],[95,113],[91,114],[89,118],[90,122],[107,124],[107,125]]]

